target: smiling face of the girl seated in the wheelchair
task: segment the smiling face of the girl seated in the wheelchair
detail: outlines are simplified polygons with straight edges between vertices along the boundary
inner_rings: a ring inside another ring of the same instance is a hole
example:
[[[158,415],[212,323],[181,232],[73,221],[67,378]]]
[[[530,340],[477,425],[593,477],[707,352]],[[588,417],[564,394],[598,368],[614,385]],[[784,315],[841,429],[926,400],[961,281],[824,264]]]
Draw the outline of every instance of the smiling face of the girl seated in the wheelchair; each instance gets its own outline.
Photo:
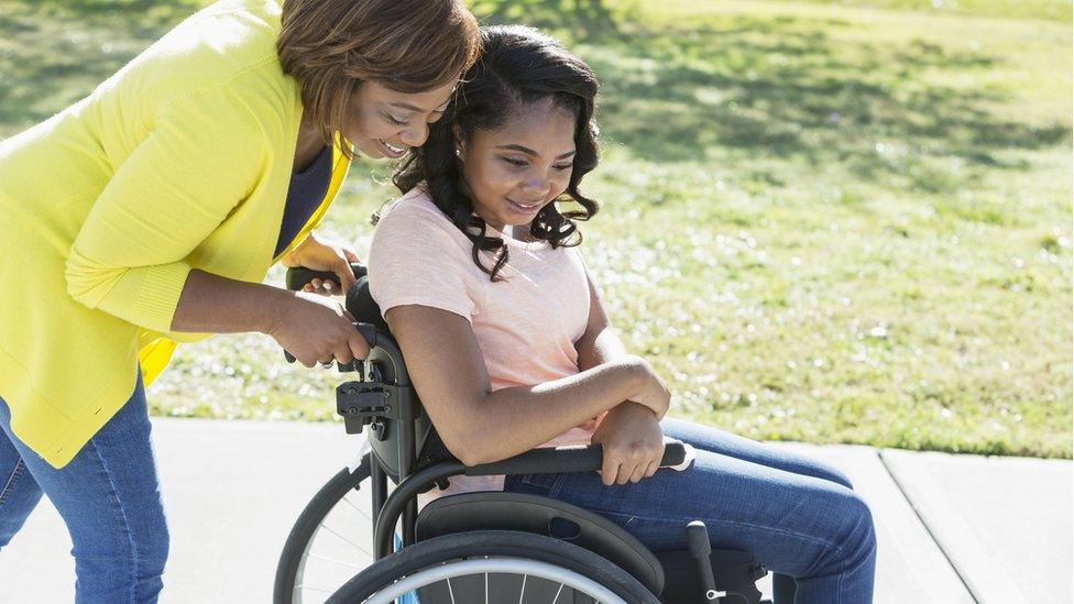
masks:
[[[457,143],[462,185],[490,227],[529,224],[559,197],[573,169],[574,116],[551,99],[522,106],[497,130]]]

